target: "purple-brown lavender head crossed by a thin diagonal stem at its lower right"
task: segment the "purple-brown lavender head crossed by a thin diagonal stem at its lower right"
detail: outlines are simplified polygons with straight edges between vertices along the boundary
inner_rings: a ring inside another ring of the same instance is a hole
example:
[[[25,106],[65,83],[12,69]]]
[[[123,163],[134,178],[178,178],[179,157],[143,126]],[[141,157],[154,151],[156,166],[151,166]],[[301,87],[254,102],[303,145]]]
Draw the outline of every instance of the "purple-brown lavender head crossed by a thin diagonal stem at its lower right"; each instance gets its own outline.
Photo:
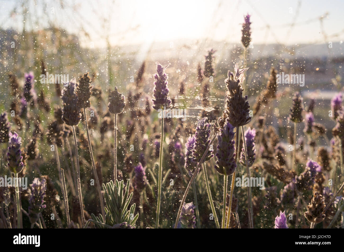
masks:
[[[207,149],[209,143],[210,143],[210,124],[206,122],[207,118],[202,118],[198,121],[196,133],[195,133],[195,145],[192,150],[192,156],[194,162],[200,162],[201,158]],[[214,154],[210,150],[208,150],[205,158],[203,159],[203,162],[209,161],[210,158],[212,158]]]

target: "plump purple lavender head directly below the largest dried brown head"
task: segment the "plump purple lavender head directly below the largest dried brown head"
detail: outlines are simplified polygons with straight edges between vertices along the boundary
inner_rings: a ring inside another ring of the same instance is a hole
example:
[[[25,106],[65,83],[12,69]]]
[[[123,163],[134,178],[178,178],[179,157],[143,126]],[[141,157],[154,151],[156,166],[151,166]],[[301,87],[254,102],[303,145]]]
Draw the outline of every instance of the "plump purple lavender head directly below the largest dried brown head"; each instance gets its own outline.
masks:
[[[233,125],[227,122],[217,136],[218,145],[215,156],[217,157],[215,169],[223,175],[232,175],[237,167],[235,163],[235,141],[233,140]]]

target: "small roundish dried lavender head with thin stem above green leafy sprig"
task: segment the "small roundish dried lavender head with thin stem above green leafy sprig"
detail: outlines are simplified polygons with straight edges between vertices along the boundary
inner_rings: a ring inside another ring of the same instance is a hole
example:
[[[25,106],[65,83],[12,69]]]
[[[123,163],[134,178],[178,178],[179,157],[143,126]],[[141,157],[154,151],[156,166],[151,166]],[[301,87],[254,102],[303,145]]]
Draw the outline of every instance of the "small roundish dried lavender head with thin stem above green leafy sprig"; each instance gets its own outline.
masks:
[[[114,181],[117,179],[117,114],[123,112],[124,107],[126,106],[125,97],[117,91],[117,87],[109,95],[109,112],[114,114]]]

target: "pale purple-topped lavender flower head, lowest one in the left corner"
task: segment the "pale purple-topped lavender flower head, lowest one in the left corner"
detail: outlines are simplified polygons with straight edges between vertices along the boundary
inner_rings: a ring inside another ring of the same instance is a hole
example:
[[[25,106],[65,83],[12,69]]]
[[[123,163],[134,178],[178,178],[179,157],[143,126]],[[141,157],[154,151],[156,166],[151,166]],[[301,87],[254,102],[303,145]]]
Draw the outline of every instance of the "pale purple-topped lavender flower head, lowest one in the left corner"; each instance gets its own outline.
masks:
[[[43,204],[46,191],[46,181],[44,178],[42,180],[39,180],[39,178],[34,178],[30,186],[31,188],[29,191],[29,217],[30,222],[35,223],[39,218],[38,215],[46,207]]]

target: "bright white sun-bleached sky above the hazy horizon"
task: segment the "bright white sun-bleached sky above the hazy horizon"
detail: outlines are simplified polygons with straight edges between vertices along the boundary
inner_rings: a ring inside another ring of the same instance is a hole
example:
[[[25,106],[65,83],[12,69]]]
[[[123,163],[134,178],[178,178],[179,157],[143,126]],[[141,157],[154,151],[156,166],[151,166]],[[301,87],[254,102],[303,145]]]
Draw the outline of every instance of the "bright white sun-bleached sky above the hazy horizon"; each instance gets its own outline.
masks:
[[[96,46],[106,45],[104,39],[108,35],[111,45],[205,38],[238,43],[246,13],[251,15],[252,42],[256,44],[344,40],[344,1],[339,0],[61,1],[64,9],[55,3],[59,1],[25,1],[30,4],[27,17],[38,17],[40,25],[34,24],[34,27],[46,25],[49,19],[70,32],[78,33],[83,29]],[[21,15],[13,14],[8,18],[13,7],[21,6],[22,2],[0,0],[2,29],[22,29]],[[36,11],[34,2],[37,2]],[[325,16],[323,26],[322,15]]]

